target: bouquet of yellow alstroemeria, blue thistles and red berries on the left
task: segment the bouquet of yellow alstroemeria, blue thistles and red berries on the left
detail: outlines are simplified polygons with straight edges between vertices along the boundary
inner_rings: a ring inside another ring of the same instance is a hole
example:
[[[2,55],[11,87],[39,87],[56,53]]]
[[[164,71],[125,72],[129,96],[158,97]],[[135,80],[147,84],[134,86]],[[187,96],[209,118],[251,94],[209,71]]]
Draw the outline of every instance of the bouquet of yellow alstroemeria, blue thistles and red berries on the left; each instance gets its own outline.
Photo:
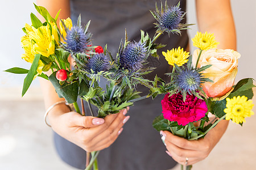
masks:
[[[161,4],[162,5],[162,4]],[[180,21],[185,15],[180,11],[179,4],[175,7],[165,6],[165,12],[157,10],[152,14],[159,21],[159,29],[151,39],[147,33],[141,31],[141,40],[138,42],[128,41],[125,31],[125,41],[121,40],[118,53],[115,58],[109,52],[107,45],[104,49],[101,46],[93,46],[92,34],[88,31],[90,21],[83,27],[81,16],[74,25],[72,20],[60,19],[57,27],[57,18],[49,15],[46,8],[36,6],[36,10],[46,20],[42,23],[31,13],[31,25],[25,24],[22,28],[25,35],[22,37],[22,48],[24,54],[22,59],[31,63],[29,70],[13,67],[6,70],[9,73],[27,74],[24,79],[22,96],[26,94],[32,80],[36,76],[51,81],[57,95],[64,97],[68,104],[75,107],[76,112],[85,116],[77,105],[77,99],[88,103],[90,114],[104,118],[108,114],[118,113],[122,109],[133,105],[135,101],[145,99],[140,96],[137,86],[141,84],[151,88],[151,80],[144,78],[144,75],[151,73],[154,68],[147,66],[149,55],[159,57],[156,51],[165,45],[156,44],[155,40],[164,32],[180,33],[181,29],[187,29],[188,24],[181,24]],[[161,7],[163,8],[163,6]],[[162,18],[162,15],[165,18]],[[176,16],[177,14],[177,16]],[[174,23],[168,23],[168,18],[176,17]],[[75,66],[71,69],[69,56],[74,60]],[[44,74],[51,71],[51,75]],[[100,79],[106,79],[109,83],[106,88],[99,85]],[[97,114],[94,113],[92,105],[96,106]],[[92,158],[86,169],[94,164],[97,168],[99,151],[92,152]],[[88,158],[88,156],[87,156]]]

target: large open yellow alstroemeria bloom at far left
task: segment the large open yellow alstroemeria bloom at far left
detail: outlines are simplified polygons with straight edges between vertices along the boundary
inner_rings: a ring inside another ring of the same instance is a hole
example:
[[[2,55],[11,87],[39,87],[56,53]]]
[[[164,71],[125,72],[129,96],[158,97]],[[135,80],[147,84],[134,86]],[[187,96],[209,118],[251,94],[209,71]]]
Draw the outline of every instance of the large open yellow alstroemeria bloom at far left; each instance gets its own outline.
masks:
[[[49,57],[51,54],[55,53],[54,35],[51,35],[48,24],[38,29],[26,24],[25,28],[27,35],[34,42],[32,45],[37,53],[45,57]]]

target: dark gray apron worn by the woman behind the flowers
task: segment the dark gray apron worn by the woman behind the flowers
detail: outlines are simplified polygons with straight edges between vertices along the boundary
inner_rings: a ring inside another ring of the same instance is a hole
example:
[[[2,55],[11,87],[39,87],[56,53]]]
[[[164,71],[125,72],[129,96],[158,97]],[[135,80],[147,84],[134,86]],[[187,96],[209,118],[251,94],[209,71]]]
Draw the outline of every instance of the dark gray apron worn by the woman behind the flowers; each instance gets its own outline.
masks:
[[[176,5],[178,2],[168,1],[168,5]],[[160,7],[159,3],[158,6]],[[180,1],[183,11],[185,6],[186,2]],[[129,40],[136,41],[140,39],[140,29],[148,32],[151,37],[156,30],[153,24],[155,19],[149,11],[155,9],[155,1],[73,0],[71,9],[73,23],[76,22],[79,14],[81,14],[82,23],[86,24],[91,20],[89,31],[93,33],[93,45],[104,47],[108,44],[108,49],[113,56],[118,50],[121,39],[124,39],[125,28]],[[185,23],[185,19],[182,22]],[[156,67],[156,70],[147,75],[147,78],[152,80],[157,74],[168,80],[164,73],[170,73],[171,67],[162,56],[162,51],[178,46],[185,48],[188,44],[188,35],[186,31],[182,32],[182,36],[168,37],[168,34],[164,33],[156,42],[167,44],[167,46],[159,50],[159,60],[153,57],[148,58],[150,65]],[[148,89],[138,86],[138,91],[147,94]],[[149,98],[137,101],[133,107],[130,107],[127,113],[130,115],[130,120],[123,126],[122,133],[113,145],[105,148],[98,155],[100,170],[162,170],[176,165],[176,162],[166,154],[166,147],[160,139],[159,132],[152,128],[152,121],[162,112],[160,103],[162,99],[163,96],[159,95],[154,100]],[[86,113],[89,113],[88,108]],[[54,139],[56,150],[64,162],[73,167],[85,169],[86,152],[82,148],[56,133],[54,133]]]

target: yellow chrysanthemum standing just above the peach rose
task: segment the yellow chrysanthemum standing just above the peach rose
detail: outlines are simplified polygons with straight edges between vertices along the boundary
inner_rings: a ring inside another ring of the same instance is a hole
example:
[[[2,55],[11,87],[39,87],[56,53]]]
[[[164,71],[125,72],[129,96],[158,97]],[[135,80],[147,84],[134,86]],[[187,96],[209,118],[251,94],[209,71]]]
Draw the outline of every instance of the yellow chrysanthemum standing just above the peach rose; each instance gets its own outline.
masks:
[[[200,48],[201,50],[208,50],[217,48],[217,45],[220,44],[220,42],[217,42],[215,40],[215,37],[213,33],[201,33],[197,32],[196,36],[192,39],[193,46],[196,46]]]

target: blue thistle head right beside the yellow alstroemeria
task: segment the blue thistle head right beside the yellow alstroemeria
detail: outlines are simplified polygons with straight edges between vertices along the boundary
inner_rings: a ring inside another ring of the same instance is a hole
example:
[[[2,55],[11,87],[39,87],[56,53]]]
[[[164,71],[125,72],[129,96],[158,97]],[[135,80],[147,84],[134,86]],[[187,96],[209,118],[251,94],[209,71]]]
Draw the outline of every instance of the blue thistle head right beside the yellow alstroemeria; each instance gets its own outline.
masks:
[[[70,31],[67,32],[64,44],[65,49],[71,53],[82,53],[89,45],[90,37],[84,33],[81,27],[72,27]]]

